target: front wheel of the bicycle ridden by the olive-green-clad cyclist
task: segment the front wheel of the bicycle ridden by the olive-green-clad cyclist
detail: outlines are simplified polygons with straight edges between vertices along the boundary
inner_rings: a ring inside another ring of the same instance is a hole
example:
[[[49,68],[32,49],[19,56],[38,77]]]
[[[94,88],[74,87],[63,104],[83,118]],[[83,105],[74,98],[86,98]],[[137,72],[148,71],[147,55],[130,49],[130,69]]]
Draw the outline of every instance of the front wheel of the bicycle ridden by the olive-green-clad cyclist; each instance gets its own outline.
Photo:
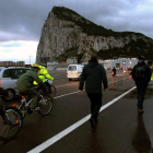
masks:
[[[40,99],[38,101],[38,107],[39,110],[38,113],[43,116],[48,115],[54,107],[54,102],[51,96],[49,95],[43,95],[43,97],[40,97]]]

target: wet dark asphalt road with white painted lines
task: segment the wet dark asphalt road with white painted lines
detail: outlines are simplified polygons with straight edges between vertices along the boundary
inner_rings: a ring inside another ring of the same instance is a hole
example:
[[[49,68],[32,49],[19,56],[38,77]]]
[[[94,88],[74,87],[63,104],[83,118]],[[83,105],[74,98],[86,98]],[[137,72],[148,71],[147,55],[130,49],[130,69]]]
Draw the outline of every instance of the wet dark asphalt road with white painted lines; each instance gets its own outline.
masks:
[[[107,71],[108,90],[96,129],[92,129],[90,101],[80,93],[79,81],[68,81],[66,71],[52,71],[57,95],[50,115],[33,113],[22,130],[0,153],[150,153],[153,146],[153,83],[145,94],[144,114],[137,110],[137,90],[131,75]]]

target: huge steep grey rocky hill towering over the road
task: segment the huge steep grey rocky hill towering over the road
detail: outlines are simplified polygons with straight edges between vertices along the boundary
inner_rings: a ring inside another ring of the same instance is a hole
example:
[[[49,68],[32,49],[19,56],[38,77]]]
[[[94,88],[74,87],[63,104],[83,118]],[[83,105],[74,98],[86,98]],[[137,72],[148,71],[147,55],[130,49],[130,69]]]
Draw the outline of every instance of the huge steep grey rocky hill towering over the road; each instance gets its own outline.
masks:
[[[140,33],[106,30],[70,9],[54,7],[42,30],[36,62],[40,62],[40,57],[51,61],[76,57],[83,62],[92,52],[101,59],[139,55],[153,59],[153,39]]]

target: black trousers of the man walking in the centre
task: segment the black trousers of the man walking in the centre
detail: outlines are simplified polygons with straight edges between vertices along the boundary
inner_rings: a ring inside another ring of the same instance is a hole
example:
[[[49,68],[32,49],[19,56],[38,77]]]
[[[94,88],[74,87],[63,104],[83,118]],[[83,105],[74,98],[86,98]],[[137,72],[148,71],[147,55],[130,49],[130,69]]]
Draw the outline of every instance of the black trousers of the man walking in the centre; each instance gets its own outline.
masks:
[[[102,106],[102,93],[87,93],[91,99],[91,118],[97,120],[98,111]]]

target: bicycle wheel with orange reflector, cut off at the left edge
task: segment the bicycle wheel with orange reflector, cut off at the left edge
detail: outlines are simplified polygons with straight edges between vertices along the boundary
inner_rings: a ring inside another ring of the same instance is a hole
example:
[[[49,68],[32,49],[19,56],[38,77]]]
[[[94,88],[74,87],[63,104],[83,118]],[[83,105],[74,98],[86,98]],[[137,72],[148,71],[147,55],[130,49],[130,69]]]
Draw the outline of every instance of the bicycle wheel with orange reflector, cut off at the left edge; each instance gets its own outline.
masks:
[[[0,115],[0,140],[13,139],[22,128],[22,115],[15,107],[7,107],[4,114]]]

